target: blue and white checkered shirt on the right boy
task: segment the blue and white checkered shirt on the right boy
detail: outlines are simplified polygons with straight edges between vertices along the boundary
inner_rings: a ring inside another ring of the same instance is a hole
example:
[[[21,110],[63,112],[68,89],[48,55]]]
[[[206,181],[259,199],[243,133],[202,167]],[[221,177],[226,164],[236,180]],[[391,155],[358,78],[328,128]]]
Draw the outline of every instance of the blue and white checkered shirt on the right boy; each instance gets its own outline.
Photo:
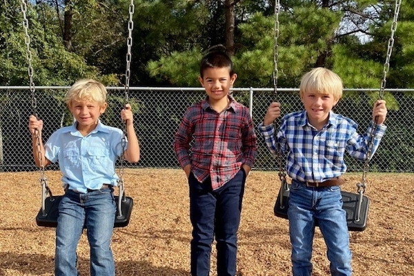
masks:
[[[366,160],[368,141],[373,122],[365,135],[357,133],[355,121],[329,113],[328,124],[317,130],[309,124],[306,111],[293,112],[282,118],[277,131],[280,150],[287,152],[286,171],[298,181],[319,182],[339,177],[346,172],[345,150],[354,158]],[[259,132],[264,136],[270,152],[277,153],[275,128],[259,124]],[[386,126],[377,125],[373,134],[372,155],[380,145]]]

